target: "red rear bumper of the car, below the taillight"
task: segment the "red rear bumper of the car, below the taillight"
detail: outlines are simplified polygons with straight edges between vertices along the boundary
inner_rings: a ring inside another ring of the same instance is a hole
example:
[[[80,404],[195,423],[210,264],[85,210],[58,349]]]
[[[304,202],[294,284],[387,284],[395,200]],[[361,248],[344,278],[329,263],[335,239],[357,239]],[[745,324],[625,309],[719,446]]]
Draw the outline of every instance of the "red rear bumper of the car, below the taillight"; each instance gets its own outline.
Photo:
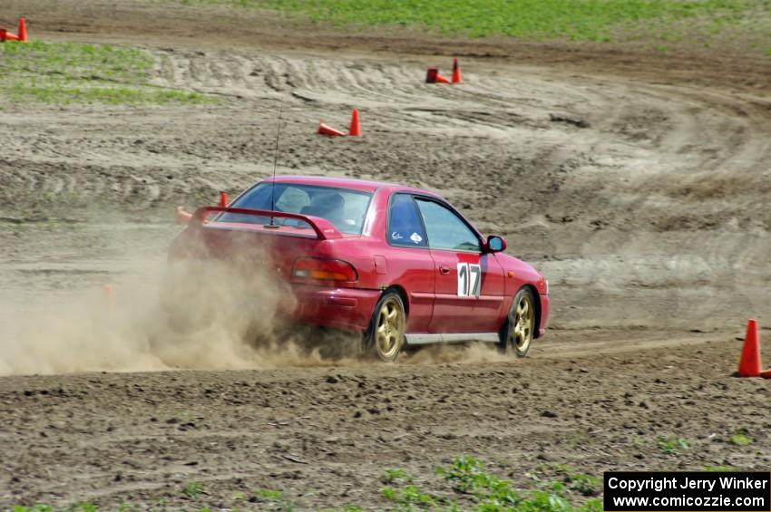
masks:
[[[357,288],[294,285],[292,291],[297,300],[294,308],[287,312],[292,321],[358,333],[366,331],[380,298],[379,290]]]

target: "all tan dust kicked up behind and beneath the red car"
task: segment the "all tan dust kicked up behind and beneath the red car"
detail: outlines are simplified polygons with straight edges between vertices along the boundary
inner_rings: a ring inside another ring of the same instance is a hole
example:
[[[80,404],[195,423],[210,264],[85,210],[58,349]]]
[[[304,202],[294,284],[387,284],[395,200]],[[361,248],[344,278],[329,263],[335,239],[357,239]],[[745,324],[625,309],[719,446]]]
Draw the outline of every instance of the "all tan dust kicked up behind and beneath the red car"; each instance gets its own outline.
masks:
[[[0,296],[0,375],[71,372],[275,369],[358,366],[356,334],[300,329],[282,321],[296,301],[269,275],[267,248],[234,241],[228,261],[137,262],[142,275],[112,290],[41,294],[20,307]],[[200,256],[200,255],[199,255]],[[509,360],[483,343],[425,347],[398,363]]]

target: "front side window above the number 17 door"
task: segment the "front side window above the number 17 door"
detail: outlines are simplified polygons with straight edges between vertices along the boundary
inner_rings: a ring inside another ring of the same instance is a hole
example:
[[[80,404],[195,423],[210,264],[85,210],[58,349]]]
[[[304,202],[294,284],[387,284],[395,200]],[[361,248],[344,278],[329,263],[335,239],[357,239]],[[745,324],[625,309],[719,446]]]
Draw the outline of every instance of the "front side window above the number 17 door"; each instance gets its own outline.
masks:
[[[432,249],[482,251],[479,238],[454,211],[434,201],[416,199]]]

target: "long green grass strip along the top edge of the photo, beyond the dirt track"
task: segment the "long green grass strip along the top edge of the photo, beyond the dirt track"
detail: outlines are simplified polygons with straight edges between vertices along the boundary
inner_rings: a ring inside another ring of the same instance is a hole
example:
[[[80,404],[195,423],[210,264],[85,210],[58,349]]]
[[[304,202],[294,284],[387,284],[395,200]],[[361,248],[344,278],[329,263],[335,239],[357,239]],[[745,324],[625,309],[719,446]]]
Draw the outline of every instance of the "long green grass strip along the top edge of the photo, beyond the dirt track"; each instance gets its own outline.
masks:
[[[695,18],[752,19],[771,14],[767,0],[180,0],[300,14],[338,25],[393,25],[471,37],[510,35],[530,39],[610,41],[619,29]]]

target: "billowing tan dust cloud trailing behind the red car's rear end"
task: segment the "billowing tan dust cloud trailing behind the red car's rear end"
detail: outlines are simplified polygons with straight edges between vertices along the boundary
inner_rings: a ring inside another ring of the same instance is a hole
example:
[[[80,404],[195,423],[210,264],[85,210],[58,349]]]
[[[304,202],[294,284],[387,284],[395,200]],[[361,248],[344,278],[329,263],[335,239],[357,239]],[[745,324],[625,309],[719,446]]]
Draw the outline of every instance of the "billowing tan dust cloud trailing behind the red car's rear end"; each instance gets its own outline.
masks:
[[[217,262],[159,268],[112,295],[73,293],[0,324],[0,374],[261,367],[278,307],[291,306],[279,295],[259,273]]]

